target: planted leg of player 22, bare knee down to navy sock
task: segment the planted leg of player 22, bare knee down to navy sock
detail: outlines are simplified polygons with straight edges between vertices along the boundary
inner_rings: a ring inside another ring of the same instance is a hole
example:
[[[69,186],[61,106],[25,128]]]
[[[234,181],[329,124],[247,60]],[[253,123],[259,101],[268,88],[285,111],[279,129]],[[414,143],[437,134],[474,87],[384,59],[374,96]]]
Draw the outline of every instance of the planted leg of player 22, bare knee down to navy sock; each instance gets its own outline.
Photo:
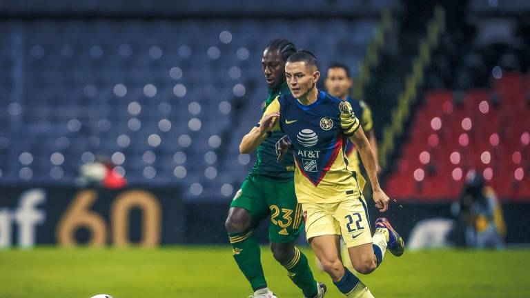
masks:
[[[333,284],[346,297],[371,298],[373,295],[364,284],[344,268],[340,259],[340,237],[338,235],[322,235],[310,239],[311,247],[322,263],[324,271],[333,280]]]

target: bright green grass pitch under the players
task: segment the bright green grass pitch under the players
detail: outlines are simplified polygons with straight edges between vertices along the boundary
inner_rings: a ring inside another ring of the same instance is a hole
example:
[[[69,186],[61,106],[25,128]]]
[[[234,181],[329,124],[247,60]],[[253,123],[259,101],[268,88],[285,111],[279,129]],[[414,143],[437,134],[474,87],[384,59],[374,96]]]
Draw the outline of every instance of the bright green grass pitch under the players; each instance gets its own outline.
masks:
[[[304,250],[314,265],[311,250]],[[267,248],[262,260],[278,297],[302,297]],[[313,266],[313,268],[315,268]],[[529,297],[530,250],[387,253],[361,276],[375,297]],[[328,298],[342,297],[323,272]],[[228,247],[0,250],[0,297],[246,297]]]

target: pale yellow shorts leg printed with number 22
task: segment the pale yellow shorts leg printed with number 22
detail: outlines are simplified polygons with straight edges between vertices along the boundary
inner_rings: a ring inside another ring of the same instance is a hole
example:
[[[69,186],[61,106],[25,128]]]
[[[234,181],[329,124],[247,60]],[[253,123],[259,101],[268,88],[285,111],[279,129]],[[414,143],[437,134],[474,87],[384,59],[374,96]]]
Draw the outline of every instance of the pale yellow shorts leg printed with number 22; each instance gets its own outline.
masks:
[[[372,243],[367,211],[362,197],[352,197],[337,206],[333,217],[340,223],[342,239],[348,248]]]

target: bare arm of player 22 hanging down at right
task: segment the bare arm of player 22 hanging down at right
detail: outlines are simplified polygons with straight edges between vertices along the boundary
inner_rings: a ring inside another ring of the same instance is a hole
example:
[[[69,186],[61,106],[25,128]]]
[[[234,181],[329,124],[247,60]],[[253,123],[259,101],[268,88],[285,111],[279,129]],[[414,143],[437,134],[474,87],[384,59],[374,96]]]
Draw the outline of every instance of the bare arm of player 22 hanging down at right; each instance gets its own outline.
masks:
[[[375,201],[375,206],[380,209],[380,212],[385,212],[389,208],[389,197],[386,196],[379,185],[375,157],[362,128],[357,129],[357,131],[355,131],[355,133],[350,137],[350,140],[355,143],[355,147],[357,147],[359,155],[361,156],[362,164],[364,164],[364,168],[366,168],[366,173],[368,174],[370,183],[372,184],[373,200]]]

